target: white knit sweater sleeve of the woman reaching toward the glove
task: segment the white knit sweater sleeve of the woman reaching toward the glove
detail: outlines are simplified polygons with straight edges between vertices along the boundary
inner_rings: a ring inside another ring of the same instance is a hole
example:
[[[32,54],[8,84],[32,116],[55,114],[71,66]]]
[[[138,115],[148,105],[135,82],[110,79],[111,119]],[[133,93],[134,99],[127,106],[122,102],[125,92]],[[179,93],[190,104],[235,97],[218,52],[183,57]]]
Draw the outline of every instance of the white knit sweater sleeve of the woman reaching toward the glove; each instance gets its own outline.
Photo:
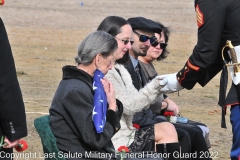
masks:
[[[161,94],[159,81],[155,78],[139,91],[132,84],[132,79],[128,71],[122,65],[118,65],[119,73],[112,69],[108,71],[106,77],[112,82],[115,89],[116,98],[123,104],[123,113],[133,115],[135,112],[146,109],[154,103]]]

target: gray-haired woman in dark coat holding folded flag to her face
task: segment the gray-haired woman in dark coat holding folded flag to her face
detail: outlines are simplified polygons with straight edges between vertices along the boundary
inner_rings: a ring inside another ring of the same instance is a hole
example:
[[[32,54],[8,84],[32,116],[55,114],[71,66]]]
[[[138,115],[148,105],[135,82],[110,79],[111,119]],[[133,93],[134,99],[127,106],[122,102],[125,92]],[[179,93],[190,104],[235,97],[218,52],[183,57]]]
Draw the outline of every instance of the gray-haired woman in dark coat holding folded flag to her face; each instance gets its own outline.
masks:
[[[112,84],[101,77],[112,68],[116,49],[117,41],[110,34],[92,32],[78,47],[77,66],[62,68],[63,78],[50,107],[50,123],[57,147],[63,155],[71,155],[70,159],[86,158],[85,154],[90,151],[112,152],[114,148],[111,138],[120,129],[121,102],[116,101]],[[99,77],[100,85],[96,84],[95,76]],[[103,95],[98,100],[106,104],[101,126],[94,121],[98,114],[97,89]]]

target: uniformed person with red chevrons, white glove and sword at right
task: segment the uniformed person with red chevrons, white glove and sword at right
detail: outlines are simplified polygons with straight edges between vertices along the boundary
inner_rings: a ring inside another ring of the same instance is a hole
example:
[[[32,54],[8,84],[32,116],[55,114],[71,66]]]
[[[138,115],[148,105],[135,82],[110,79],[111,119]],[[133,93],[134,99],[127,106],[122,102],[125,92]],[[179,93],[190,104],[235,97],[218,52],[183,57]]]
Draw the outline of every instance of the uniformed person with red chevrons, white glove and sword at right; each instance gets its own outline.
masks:
[[[179,72],[160,76],[163,83],[167,82],[162,91],[169,93],[182,88],[190,90],[196,83],[204,87],[223,70],[219,105],[223,107],[223,112],[226,106],[231,106],[230,121],[233,132],[231,159],[238,160],[240,158],[240,90],[238,89],[240,84],[239,80],[232,83],[225,99],[227,69],[221,52],[229,40],[235,47],[236,54],[240,54],[238,49],[240,45],[240,0],[195,0],[194,7],[198,26],[197,44]],[[231,59],[228,54],[229,47],[226,48],[228,49],[224,50],[223,57],[228,63]],[[224,116],[222,117],[222,127],[226,128]]]

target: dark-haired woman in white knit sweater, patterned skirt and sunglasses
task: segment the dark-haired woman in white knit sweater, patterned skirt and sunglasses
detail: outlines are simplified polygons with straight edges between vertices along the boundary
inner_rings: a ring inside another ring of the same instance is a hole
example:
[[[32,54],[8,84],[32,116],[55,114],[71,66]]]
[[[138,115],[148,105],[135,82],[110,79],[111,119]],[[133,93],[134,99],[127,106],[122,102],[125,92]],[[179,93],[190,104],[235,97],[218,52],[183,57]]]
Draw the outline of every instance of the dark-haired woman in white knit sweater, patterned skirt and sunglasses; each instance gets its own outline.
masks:
[[[133,34],[131,26],[121,17],[109,16],[101,22],[97,30],[103,30],[111,34],[118,42],[118,49],[114,53],[114,57],[116,58],[114,68],[106,75],[109,80],[111,79],[110,81],[113,83],[114,88],[116,88],[116,98],[122,101],[124,108],[120,121],[121,129],[119,133],[112,138],[114,146],[118,148],[119,146],[126,145],[129,141],[129,136],[135,135],[134,138],[130,140],[131,144],[129,143],[131,152],[154,151],[155,147],[157,151],[159,151],[157,146],[161,144],[163,146],[163,143],[172,145],[172,149],[168,150],[169,153],[173,154],[174,151],[178,152],[180,148],[177,133],[171,123],[157,123],[140,128],[137,131],[133,128],[133,115],[135,112],[148,108],[150,103],[160,94],[159,90],[161,86],[159,85],[159,81],[154,79],[152,83],[149,83],[149,85],[138,91],[132,84],[130,74],[120,63],[123,61],[122,58],[124,55],[131,49],[131,44],[134,43],[131,40]],[[141,38],[142,41],[150,39],[144,35],[139,35],[139,38]],[[123,97],[127,97],[127,99]],[[131,105],[129,105],[130,102],[132,102]],[[152,143],[154,141],[157,144],[156,146],[155,143]],[[151,144],[151,146],[149,146],[149,144]],[[169,160],[171,160],[171,158]]]

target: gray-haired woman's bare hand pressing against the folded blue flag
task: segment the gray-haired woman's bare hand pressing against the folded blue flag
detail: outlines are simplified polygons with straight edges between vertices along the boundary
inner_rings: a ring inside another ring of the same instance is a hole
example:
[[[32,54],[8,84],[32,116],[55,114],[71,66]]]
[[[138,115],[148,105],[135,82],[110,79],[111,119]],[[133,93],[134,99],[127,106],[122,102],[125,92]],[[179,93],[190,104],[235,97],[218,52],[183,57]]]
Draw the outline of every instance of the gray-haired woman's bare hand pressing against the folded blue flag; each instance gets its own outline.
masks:
[[[117,105],[116,105],[116,96],[115,96],[115,90],[113,88],[113,85],[110,81],[107,80],[107,78],[101,79],[103,89],[106,93],[107,96],[107,101],[108,101],[108,109],[111,109],[113,111],[116,111]]]

